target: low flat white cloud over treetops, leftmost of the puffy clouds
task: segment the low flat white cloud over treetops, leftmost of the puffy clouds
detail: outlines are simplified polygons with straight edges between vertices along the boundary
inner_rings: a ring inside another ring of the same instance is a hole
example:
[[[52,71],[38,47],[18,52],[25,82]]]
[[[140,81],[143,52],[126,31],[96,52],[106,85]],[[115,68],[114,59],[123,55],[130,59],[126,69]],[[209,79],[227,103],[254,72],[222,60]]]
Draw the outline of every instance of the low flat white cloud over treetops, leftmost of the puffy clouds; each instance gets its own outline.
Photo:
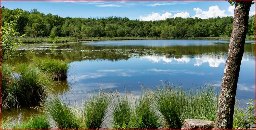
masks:
[[[172,17],[172,13],[169,13],[169,12],[166,12],[162,15],[152,12],[152,14],[148,14],[147,16],[140,16],[140,20],[142,21],[165,20],[166,18],[171,18],[171,17]]]

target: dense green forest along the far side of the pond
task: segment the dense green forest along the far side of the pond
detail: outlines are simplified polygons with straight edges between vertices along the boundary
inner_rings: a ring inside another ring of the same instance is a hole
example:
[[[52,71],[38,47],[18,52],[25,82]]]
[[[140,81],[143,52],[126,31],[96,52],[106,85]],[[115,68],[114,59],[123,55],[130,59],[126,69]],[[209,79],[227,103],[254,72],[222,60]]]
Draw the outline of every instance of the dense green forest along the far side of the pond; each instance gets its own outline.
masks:
[[[201,18],[167,18],[159,21],[130,20],[127,17],[107,18],[71,18],[44,14],[33,9],[8,9],[1,7],[1,25],[13,21],[15,15],[21,13],[17,20],[16,31],[28,38],[75,37],[88,39],[91,37],[230,37],[233,17]],[[247,36],[255,38],[255,15],[249,16]]]

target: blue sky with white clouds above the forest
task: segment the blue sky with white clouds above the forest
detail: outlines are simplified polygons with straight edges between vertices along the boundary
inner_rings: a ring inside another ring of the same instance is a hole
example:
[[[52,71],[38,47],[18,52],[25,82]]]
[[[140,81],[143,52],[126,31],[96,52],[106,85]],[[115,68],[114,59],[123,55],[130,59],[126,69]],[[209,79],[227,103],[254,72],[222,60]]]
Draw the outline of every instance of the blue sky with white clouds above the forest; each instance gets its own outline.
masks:
[[[227,1],[2,1],[5,8],[30,11],[36,8],[45,14],[61,17],[119,16],[144,21],[171,17],[232,16],[234,6]],[[255,4],[250,15],[255,14]]]

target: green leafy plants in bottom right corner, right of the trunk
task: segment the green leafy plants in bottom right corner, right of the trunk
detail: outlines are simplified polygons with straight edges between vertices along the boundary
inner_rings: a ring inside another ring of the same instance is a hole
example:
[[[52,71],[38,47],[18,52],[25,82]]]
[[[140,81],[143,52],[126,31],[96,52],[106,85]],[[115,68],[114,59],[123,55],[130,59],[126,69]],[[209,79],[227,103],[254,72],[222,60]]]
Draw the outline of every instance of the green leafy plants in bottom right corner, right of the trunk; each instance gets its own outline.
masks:
[[[255,129],[255,100],[249,99],[246,107],[236,107],[233,129]]]

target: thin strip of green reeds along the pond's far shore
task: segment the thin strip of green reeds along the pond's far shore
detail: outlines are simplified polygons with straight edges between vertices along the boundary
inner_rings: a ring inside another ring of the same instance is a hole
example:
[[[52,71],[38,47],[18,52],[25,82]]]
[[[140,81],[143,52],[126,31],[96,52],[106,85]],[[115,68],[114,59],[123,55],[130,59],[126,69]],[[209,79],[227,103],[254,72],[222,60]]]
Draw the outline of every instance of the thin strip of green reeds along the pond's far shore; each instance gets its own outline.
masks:
[[[87,39],[76,39],[75,37],[59,37],[50,39],[42,38],[20,38],[22,43],[66,43],[66,42],[88,42],[88,41],[108,41],[108,40],[167,40],[167,39],[198,39],[198,40],[230,40],[230,37],[187,37],[187,38],[161,38],[161,37],[91,37]],[[248,37],[246,40],[255,40],[255,37]]]

